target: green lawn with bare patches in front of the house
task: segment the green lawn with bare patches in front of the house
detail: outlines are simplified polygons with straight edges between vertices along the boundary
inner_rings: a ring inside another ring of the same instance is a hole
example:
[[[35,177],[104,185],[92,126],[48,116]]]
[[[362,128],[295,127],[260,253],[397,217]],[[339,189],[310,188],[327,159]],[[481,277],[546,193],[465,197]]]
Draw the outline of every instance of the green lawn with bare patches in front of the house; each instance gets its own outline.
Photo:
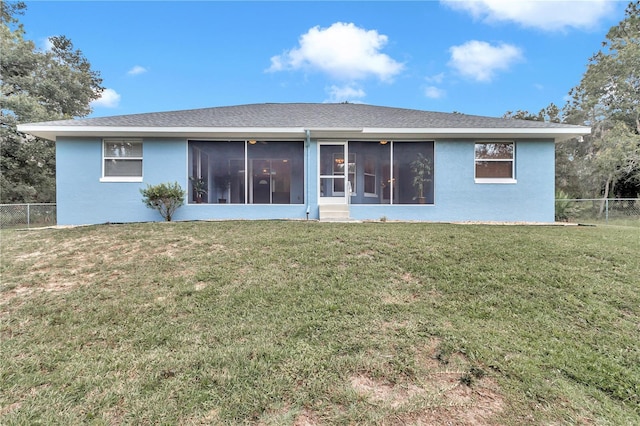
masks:
[[[0,234],[0,424],[639,424],[640,228]]]

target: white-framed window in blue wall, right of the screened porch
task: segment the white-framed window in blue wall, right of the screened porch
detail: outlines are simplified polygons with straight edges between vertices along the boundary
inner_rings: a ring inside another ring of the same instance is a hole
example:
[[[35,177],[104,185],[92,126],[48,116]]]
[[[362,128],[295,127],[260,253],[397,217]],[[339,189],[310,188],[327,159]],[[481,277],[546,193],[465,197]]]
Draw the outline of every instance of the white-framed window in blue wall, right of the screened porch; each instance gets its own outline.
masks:
[[[515,144],[481,142],[475,144],[475,171],[478,183],[513,183]]]

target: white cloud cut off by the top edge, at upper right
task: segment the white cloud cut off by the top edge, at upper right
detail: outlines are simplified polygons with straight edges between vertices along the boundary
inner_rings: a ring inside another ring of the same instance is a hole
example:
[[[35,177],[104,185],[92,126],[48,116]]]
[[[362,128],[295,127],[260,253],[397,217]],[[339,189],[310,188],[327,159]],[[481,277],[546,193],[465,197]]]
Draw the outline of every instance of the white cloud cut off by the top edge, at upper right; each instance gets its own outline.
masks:
[[[589,29],[615,9],[611,0],[441,0],[485,22],[515,22],[545,31]]]

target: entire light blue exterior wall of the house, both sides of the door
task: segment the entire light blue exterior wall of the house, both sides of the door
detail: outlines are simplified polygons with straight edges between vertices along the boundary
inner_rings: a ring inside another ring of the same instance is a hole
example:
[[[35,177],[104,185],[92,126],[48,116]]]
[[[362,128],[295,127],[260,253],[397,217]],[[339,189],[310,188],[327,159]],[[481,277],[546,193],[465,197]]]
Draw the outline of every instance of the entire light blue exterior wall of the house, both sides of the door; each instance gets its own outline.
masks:
[[[351,205],[353,219],[423,221],[554,221],[553,141],[516,141],[513,184],[474,182],[474,141],[436,141],[433,205]],[[318,218],[317,143],[305,143],[305,200],[295,205],[187,204],[174,220]],[[143,182],[100,182],[102,140],[59,138],[58,224],[160,221],[142,203],[147,184],[188,182],[185,139],[145,139]],[[186,200],[185,200],[186,201]]]

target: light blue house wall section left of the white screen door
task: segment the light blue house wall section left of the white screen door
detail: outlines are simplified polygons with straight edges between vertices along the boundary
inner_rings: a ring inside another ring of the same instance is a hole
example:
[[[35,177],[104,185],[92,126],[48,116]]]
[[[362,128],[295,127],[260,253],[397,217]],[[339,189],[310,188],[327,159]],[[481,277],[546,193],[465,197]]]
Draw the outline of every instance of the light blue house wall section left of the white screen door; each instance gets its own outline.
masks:
[[[144,139],[142,182],[100,182],[100,138],[59,138],[56,162],[58,225],[161,221],[158,212],[142,203],[140,189],[163,182],[178,182],[185,190],[189,187],[185,139]],[[309,167],[305,170],[308,174]],[[187,204],[185,200],[173,220],[303,219],[306,210],[306,203],[248,206]]]

